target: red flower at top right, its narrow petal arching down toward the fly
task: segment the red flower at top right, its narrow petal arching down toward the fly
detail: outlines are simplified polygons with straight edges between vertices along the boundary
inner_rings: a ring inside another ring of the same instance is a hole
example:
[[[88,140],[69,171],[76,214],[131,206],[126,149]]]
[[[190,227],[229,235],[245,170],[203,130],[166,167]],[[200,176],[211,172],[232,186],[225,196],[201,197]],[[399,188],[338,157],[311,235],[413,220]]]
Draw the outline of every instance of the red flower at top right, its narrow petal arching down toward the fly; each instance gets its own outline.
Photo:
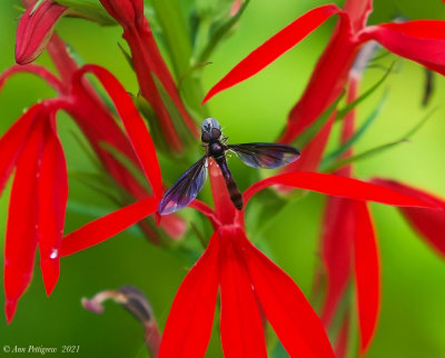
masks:
[[[365,27],[372,4],[372,0],[347,0],[344,10],[335,4],[310,10],[240,61],[209,90],[204,102],[267,67],[336,13],[339,14],[339,22],[305,92],[290,111],[287,128],[279,141],[291,142],[338,98],[357,51],[369,40],[376,40],[398,56],[445,73],[445,60],[442,56],[445,21],[417,20]]]

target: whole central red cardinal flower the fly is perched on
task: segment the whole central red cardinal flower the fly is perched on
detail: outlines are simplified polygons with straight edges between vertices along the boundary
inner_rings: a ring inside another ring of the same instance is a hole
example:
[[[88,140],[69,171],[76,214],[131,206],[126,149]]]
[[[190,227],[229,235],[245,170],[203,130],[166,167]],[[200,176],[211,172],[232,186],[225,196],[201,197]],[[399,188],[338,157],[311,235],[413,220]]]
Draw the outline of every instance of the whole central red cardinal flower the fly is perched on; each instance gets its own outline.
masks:
[[[215,227],[210,242],[181,284],[166,324],[159,357],[202,357],[210,338],[218,287],[221,295],[221,341],[225,356],[255,352],[265,357],[260,312],[264,311],[291,356],[333,357],[329,341],[317,315],[294,281],[259,252],[247,239],[244,211],[237,211],[219,169],[210,166],[215,211],[199,200],[191,207]],[[359,180],[334,175],[294,172],[256,182],[244,193],[247,203],[258,191],[274,185],[297,187],[360,200],[359,235],[369,222],[363,200],[396,206],[435,206]],[[63,239],[61,253],[71,255],[103,241],[142,219],[152,207],[137,202],[98,219]],[[109,225],[113,223],[110,228]],[[360,252],[368,247],[360,246]]]

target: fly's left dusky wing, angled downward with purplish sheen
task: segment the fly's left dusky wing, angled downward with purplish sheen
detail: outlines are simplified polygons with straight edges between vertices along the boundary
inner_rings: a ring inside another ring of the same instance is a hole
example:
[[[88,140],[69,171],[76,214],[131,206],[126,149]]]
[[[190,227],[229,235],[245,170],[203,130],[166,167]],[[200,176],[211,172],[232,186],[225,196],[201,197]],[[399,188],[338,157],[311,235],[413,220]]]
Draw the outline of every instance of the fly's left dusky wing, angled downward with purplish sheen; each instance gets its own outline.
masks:
[[[207,155],[194,163],[180,178],[167,190],[159,202],[160,215],[168,215],[188,206],[202,189],[207,179]]]

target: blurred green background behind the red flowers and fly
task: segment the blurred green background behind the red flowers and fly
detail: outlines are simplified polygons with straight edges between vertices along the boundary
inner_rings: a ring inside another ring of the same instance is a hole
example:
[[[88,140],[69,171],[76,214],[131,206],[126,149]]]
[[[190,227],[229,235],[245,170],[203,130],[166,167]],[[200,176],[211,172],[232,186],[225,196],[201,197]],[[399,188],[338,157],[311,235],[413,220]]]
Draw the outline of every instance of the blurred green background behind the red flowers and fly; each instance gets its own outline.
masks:
[[[206,90],[264,40],[323,3],[314,0],[251,1],[237,31],[211,56],[212,64],[204,71]],[[1,71],[13,63],[14,31],[20,16],[20,10],[14,8],[17,4],[19,1],[0,2]],[[377,0],[374,8],[369,23],[389,21],[400,13],[409,19],[445,19],[445,6],[439,0]],[[219,119],[231,142],[273,141],[277,137],[288,110],[305,88],[333,26],[334,20],[327,21],[261,73],[209,102],[211,116]],[[86,62],[108,68],[129,91],[137,91],[135,76],[117,47],[122,42],[120,28],[62,19],[57,30]],[[385,62],[394,59],[396,57],[390,54]],[[52,68],[46,53],[37,62]],[[383,73],[380,69],[366,71],[362,89],[368,88]],[[394,178],[445,197],[445,109],[441,107],[445,81],[435,76],[435,84],[432,103],[423,109],[424,70],[416,63],[399,61],[397,73],[383,86],[389,90],[386,106],[358,142],[357,152],[398,139],[431,108],[439,109],[411,142],[357,163],[358,178]],[[382,91],[383,88],[359,107],[360,120],[374,109]],[[12,78],[0,96],[0,132],[13,123],[23,108],[52,96],[55,92],[40,79],[29,74]],[[70,148],[66,152],[69,168],[90,168],[91,163],[72,137],[71,120],[62,115],[59,123],[63,145]],[[200,150],[199,143],[197,150]],[[236,160],[231,160],[230,166],[240,187],[246,188],[249,177],[241,175],[246,169]],[[248,228],[253,241],[258,242],[305,294],[310,291],[314,267],[319,260],[316,246],[324,200],[319,195],[309,195],[293,201],[270,218],[260,237],[253,237],[257,228]],[[79,209],[76,203],[89,206],[92,213],[95,208],[113,209],[103,197],[76,180],[70,180],[70,203],[67,232],[92,219],[88,212],[81,212],[85,207]],[[0,199],[2,246],[7,205],[8,191]],[[372,205],[372,210],[382,255],[383,300],[376,337],[367,357],[445,357],[444,261],[413,233],[394,208]],[[1,271],[2,260],[1,257]],[[147,356],[142,330],[123,309],[108,304],[106,312],[96,316],[81,308],[80,298],[122,285],[137,286],[150,299],[158,322],[164,327],[175,292],[190,265],[190,260],[148,243],[134,229],[63,258],[60,280],[49,298],[36,266],[34,278],[20,300],[13,322],[7,326],[3,314],[0,315],[0,346],[60,348],[79,345],[78,357]],[[3,304],[1,294],[0,307]],[[220,357],[217,328],[214,332],[208,357]]]

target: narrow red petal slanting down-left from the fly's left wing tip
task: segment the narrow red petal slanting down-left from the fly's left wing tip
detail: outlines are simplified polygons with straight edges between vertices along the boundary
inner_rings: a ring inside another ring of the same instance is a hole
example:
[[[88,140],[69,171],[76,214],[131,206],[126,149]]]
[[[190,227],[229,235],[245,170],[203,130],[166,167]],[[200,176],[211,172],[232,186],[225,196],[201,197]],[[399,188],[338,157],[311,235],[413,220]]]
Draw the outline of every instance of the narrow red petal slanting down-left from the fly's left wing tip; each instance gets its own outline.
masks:
[[[93,220],[63,238],[61,256],[72,255],[98,245],[154,213],[157,209],[158,200],[148,198]]]

